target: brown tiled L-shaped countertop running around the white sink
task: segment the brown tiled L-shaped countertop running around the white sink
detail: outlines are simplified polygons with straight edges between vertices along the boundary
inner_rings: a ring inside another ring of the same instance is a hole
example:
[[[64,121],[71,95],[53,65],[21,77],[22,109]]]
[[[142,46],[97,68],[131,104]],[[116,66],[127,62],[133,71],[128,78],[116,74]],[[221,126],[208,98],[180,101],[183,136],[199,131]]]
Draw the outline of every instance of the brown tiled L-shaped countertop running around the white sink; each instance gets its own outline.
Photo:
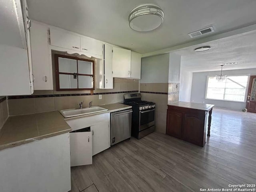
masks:
[[[121,103],[102,105],[101,107],[108,109],[108,111],[74,118],[132,108],[132,106]],[[71,128],[66,123],[66,119],[59,111],[10,116],[0,130],[0,150],[70,132]]]

